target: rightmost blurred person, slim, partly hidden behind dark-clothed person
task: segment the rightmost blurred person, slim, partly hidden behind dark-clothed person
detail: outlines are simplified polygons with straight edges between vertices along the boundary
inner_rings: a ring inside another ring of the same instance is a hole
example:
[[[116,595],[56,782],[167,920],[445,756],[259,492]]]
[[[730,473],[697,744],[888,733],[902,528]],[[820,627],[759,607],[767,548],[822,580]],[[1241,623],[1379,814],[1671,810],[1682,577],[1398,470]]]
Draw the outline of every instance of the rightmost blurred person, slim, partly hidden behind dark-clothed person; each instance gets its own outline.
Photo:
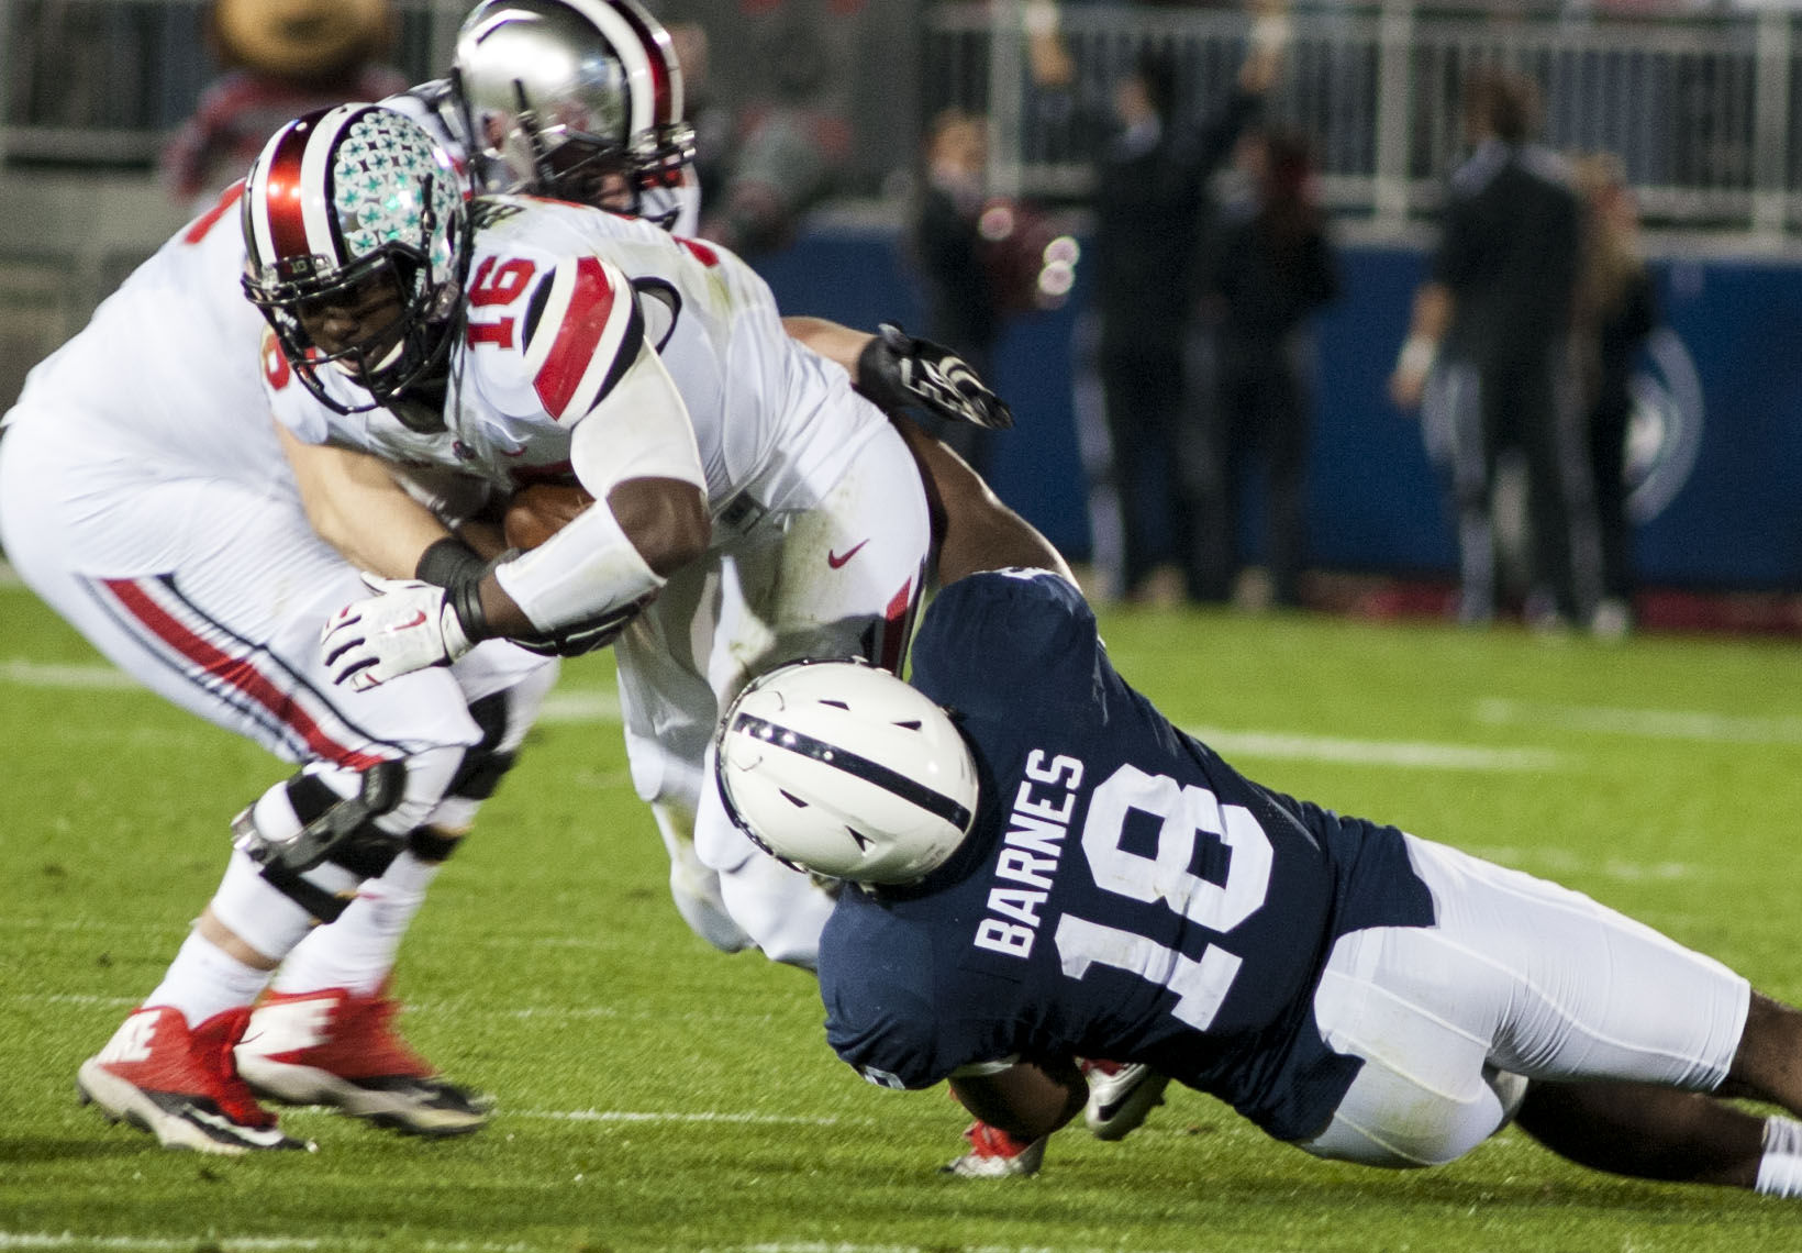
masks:
[[[1640,251],[1638,206],[1620,160],[1591,155],[1577,160],[1575,169],[1584,202],[1575,355],[1602,550],[1602,600],[1589,626],[1600,636],[1616,638],[1633,626],[1633,532],[1627,523],[1633,364],[1658,325],[1658,301]]]

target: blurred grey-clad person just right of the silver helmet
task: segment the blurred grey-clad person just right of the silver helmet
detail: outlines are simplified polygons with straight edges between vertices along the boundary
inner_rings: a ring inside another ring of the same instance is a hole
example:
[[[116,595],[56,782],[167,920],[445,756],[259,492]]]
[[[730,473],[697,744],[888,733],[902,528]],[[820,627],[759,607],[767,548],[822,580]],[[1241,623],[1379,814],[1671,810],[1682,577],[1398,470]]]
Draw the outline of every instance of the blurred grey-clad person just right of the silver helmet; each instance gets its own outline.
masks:
[[[764,61],[775,72],[773,96],[739,114],[732,164],[701,193],[710,206],[701,234],[750,258],[787,247],[851,157],[851,123],[825,105],[820,32],[804,20],[777,27]]]

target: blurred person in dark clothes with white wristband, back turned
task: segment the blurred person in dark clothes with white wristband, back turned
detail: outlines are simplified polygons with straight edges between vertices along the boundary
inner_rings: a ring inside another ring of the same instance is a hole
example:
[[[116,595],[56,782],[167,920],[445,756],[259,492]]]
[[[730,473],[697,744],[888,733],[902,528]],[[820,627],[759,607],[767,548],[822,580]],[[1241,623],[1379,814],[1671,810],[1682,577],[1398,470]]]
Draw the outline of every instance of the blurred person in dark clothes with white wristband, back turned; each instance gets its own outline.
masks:
[[[1532,79],[1479,67],[1465,79],[1463,106],[1474,153],[1451,177],[1431,278],[1415,294],[1389,395],[1420,406],[1434,373],[1422,418],[1451,463],[1460,620],[1496,617],[1496,469],[1519,453],[1532,532],[1528,617],[1575,624],[1595,599],[1589,471],[1568,371],[1577,193],[1564,162],[1534,142]]]

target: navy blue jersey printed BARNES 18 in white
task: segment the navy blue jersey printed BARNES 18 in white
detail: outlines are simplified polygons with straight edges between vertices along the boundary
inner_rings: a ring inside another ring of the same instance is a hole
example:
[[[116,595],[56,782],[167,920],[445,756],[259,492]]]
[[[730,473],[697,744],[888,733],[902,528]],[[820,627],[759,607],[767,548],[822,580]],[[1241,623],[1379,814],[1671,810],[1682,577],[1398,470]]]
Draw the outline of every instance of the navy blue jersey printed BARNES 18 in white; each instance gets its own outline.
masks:
[[[948,586],[912,674],[968,736],[982,800],[923,883],[840,898],[820,945],[838,1055],[894,1087],[1007,1058],[1148,1062],[1279,1139],[1319,1132],[1361,1066],[1314,1026],[1333,939],[1433,921],[1402,833],[1261,788],[1177,730],[1051,573]]]

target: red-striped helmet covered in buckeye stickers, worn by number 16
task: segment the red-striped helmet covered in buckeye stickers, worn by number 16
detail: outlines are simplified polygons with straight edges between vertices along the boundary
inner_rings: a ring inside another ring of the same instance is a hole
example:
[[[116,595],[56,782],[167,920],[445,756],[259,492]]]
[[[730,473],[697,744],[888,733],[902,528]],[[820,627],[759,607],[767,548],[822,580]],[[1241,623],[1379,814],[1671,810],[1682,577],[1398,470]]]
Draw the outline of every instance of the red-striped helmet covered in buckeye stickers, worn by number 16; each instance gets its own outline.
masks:
[[[283,126],[250,166],[243,290],[308,391],[339,413],[373,409],[447,361],[467,231],[450,157],[418,123],[339,105]],[[326,366],[369,402],[328,395]]]

